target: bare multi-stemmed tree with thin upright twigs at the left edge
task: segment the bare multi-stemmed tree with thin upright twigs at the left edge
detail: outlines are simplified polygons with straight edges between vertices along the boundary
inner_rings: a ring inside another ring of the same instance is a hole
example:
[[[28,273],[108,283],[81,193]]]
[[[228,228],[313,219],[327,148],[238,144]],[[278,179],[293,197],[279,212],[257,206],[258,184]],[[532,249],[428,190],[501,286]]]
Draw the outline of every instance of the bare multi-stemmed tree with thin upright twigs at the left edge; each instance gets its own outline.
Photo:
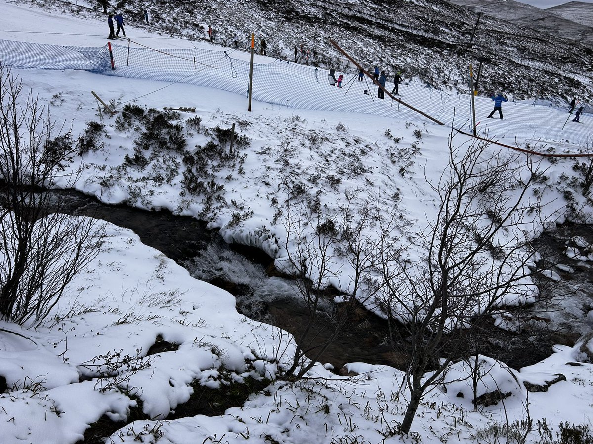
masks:
[[[65,214],[59,183],[82,170],[71,133],[56,134],[49,111],[0,64],[0,318],[39,324],[68,282],[95,258],[97,221]]]

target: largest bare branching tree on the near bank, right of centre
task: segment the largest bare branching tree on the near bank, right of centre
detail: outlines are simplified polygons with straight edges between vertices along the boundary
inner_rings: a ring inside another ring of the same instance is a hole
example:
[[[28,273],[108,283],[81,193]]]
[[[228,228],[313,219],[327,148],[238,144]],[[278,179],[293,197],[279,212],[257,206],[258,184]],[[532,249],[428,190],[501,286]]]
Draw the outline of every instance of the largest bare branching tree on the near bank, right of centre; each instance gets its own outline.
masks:
[[[487,142],[455,147],[449,137],[449,164],[431,184],[437,214],[415,240],[425,258],[406,261],[391,248],[385,227],[377,243],[382,279],[376,301],[390,318],[394,348],[408,359],[403,433],[467,338],[483,334],[477,320],[496,314],[500,305],[517,307],[535,297],[527,278],[533,266],[528,242],[540,202],[528,190],[537,181],[537,166],[530,157],[521,163],[488,148]]]

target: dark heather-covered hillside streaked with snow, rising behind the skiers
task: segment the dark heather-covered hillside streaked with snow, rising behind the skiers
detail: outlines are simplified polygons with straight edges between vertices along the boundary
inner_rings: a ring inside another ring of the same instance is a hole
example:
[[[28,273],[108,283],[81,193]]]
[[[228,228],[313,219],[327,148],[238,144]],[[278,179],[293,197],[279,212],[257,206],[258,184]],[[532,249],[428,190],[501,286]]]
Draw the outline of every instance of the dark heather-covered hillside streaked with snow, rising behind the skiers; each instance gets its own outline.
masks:
[[[79,3],[97,7],[96,2]],[[39,4],[68,15],[89,15],[63,2]],[[111,7],[116,5],[112,2]],[[232,46],[237,38],[244,49],[255,32],[257,43],[265,37],[268,53],[282,59],[292,60],[294,47],[300,50],[302,45],[311,65],[320,67],[347,66],[329,43],[332,39],[367,67],[378,64],[387,72],[402,70],[406,77],[420,78],[438,89],[466,84],[468,65],[482,60],[486,94],[502,91],[519,99],[544,96],[558,102],[575,95],[589,98],[591,47],[483,15],[468,49],[476,12],[444,0],[394,0],[388,6],[352,0],[341,2],[340,8],[329,1],[213,0],[196,8],[186,0],[158,5],[129,0],[119,8],[130,25],[144,27],[142,11],[148,11],[151,27],[192,38],[206,38],[211,24],[215,43]],[[101,14],[95,17],[104,20]]]

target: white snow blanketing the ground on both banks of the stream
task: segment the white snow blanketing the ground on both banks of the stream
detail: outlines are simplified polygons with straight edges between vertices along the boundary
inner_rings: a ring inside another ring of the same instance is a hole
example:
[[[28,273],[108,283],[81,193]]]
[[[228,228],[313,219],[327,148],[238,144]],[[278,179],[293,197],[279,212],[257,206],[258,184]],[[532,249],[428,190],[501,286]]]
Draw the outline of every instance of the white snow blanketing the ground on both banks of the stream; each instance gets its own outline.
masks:
[[[66,28],[87,34],[76,45],[98,47],[103,43],[103,22],[56,12],[48,16],[36,7],[4,0],[0,4],[0,28],[11,30],[0,31],[3,40],[24,40],[20,31],[30,32],[31,23],[35,23],[40,34],[26,34],[30,43],[71,44],[66,34],[48,34]],[[135,38],[146,43],[154,37],[138,31]],[[158,37],[162,49],[188,49],[188,44]],[[150,45],[154,46],[154,42]],[[199,43],[199,47],[209,45]],[[270,62],[260,56],[258,60]],[[425,246],[417,240],[438,210],[438,196],[425,178],[436,183],[447,164],[450,128],[409,116],[394,120],[390,115],[286,108],[260,101],[255,101],[254,111],[248,113],[242,94],[81,70],[33,69],[17,73],[25,88],[39,94],[40,101],[48,105],[54,102],[50,106],[53,118],[65,123],[66,128],[71,126],[75,135],[84,131],[87,121],[99,120],[90,95],[93,90],[104,99],[120,102],[143,96],[136,103],[146,107],[195,104],[196,114],[182,112],[182,118],[197,115],[202,118],[202,126],[211,131],[217,125],[226,128],[237,123],[239,133],[251,139],[250,146],[244,149],[244,173],[226,167],[213,172],[225,184],[225,203],[212,211],[199,198],[182,195],[179,172],[168,182],[146,178],[151,170],[160,170],[172,158],[153,159],[146,170],[122,168],[124,156],[133,156],[137,134],[133,129],[117,131],[115,117],[103,116],[105,145],[82,157],[88,168],[76,183],[76,189],[103,202],[203,215],[209,220],[209,228],[221,229],[227,242],[259,247],[275,258],[276,268],[291,271],[294,265],[288,253],[294,251],[295,239],[280,221],[275,221],[278,203],[273,198],[282,202],[291,192],[304,188],[307,195],[318,197],[324,215],[331,217],[348,204],[347,190],[362,189],[377,199],[382,214],[393,211],[397,220],[411,227],[404,236],[408,245],[406,259],[415,262],[425,258]],[[313,89],[306,91],[312,94]],[[422,98],[417,101],[421,103]],[[491,106],[488,99],[478,100],[482,114]],[[505,115],[517,118],[524,109],[524,104],[509,102]],[[541,112],[544,126],[557,121],[561,112],[545,108]],[[346,129],[338,129],[340,124]],[[496,131],[500,125],[494,121],[489,128]],[[526,128],[525,134],[537,130]],[[575,130],[570,131],[568,134],[574,134]],[[189,147],[207,141],[203,133],[186,135]],[[460,146],[468,142],[462,135],[454,140]],[[553,141],[559,152],[579,149],[558,140],[546,141]],[[518,142],[533,144],[527,136]],[[499,156],[506,153],[492,149]],[[519,156],[515,162],[523,159]],[[572,190],[575,200],[585,200],[568,181],[559,179],[563,174],[569,178],[573,175],[572,163],[541,160],[546,175],[537,185],[544,204],[541,211],[525,220],[520,230],[501,234],[495,242],[503,244],[519,234],[535,237],[546,227],[576,218],[566,208],[563,195]],[[361,191],[353,202],[364,201],[365,197]],[[536,201],[535,197],[530,199]],[[232,201],[244,205],[245,210],[238,210]],[[237,225],[230,224],[234,213],[247,210],[253,213]],[[585,208],[579,217],[591,222],[591,215],[590,208]],[[190,384],[195,381],[213,389],[248,377],[273,381],[296,344],[288,333],[238,314],[231,294],[193,278],[173,260],[142,244],[130,231],[108,224],[107,234],[106,247],[84,274],[69,284],[59,305],[40,327],[22,329],[0,323],[0,375],[8,385],[8,391],[0,394],[2,443],[74,443],[89,424],[103,415],[122,420],[138,402],[151,420],[128,424],[111,436],[114,442],[158,439],[160,443],[183,443],[209,438],[234,443],[244,442],[246,437],[259,443],[272,439],[282,443],[355,439],[382,442],[385,438],[412,442],[412,437],[392,433],[405,412],[407,393],[401,390],[404,374],[395,368],[363,362],[345,366],[346,373],[356,375],[354,379],[334,374],[331,365],[318,364],[308,375],[311,379],[295,384],[273,382],[266,392],[252,394],[243,406],[229,408],[222,416],[198,414],[166,420],[192,395]],[[568,247],[566,255],[587,260],[575,247]],[[349,300],[347,293],[352,285],[352,268],[337,262],[332,278],[324,282],[344,293],[336,297],[336,304]],[[483,264],[488,265],[492,265],[492,259]],[[570,272],[561,265],[557,267]],[[546,273],[551,279],[560,279],[554,271]],[[530,278],[522,279],[518,287],[520,291],[505,295],[505,303],[531,303],[537,297]],[[77,291],[79,288],[84,291]],[[353,296],[364,300],[364,289]],[[81,307],[84,310],[79,310]],[[368,308],[380,314],[376,307]],[[503,314],[495,318],[495,324],[508,330],[517,328],[514,320]],[[158,336],[176,343],[178,349],[146,355]],[[546,418],[553,426],[562,421],[582,422],[592,413],[593,367],[588,363],[568,365],[577,355],[578,345],[558,346],[549,358],[519,371],[480,355],[480,368],[487,377],[479,381],[479,394],[492,392],[498,386],[512,395],[504,400],[504,406],[497,403],[477,410],[471,404],[467,379],[471,358],[455,362],[445,375],[442,390],[430,392],[422,401],[413,429],[420,442],[426,444],[442,439],[448,443],[471,442],[477,429],[493,421],[504,422],[506,414],[510,420],[524,418],[527,397],[534,419]],[[132,371],[126,371],[130,367],[120,362],[124,359],[131,363]],[[567,381],[551,385],[547,392],[527,395],[522,381],[549,381],[557,373],[565,375]],[[457,397],[459,392],[463,398]],[[460,412],[463,422],[457,420]],[[538,442],[537,432],[530,433],[528,439]]]

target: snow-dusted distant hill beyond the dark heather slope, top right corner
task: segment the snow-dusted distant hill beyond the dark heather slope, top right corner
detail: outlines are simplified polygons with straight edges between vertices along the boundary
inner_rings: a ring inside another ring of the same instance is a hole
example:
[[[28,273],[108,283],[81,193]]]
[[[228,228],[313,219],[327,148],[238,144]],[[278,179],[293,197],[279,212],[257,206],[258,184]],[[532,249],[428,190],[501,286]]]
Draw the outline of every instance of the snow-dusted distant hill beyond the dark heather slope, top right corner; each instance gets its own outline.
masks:
[[[491,17],[593,47],[593,4],[570,2],[540,9],[513,0],[449,0]]]

